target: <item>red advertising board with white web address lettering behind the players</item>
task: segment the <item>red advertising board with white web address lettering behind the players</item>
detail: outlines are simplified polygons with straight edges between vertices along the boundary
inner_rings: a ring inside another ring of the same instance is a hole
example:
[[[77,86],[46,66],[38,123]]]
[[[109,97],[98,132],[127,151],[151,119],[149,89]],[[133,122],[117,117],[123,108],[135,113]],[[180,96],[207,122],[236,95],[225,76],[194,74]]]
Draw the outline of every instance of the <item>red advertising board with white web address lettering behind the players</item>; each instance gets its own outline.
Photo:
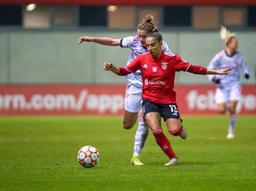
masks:
[[[122,116],[126,88],[126,85],[0,85],[0,116]],[[215,85],[176,85],[174,90],[181,116],[218,114]],[[256,115],[255,85],[242,86],[237,113]]]

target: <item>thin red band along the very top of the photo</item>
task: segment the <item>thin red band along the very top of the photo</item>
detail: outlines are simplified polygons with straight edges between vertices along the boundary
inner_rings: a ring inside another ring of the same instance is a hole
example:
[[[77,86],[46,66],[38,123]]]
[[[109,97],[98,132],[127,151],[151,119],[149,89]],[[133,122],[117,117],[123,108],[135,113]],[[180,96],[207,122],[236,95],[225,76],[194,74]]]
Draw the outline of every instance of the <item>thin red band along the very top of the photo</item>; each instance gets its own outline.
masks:
[[[0,0],[0,4],[72,5],[256,5],[256,0]]]

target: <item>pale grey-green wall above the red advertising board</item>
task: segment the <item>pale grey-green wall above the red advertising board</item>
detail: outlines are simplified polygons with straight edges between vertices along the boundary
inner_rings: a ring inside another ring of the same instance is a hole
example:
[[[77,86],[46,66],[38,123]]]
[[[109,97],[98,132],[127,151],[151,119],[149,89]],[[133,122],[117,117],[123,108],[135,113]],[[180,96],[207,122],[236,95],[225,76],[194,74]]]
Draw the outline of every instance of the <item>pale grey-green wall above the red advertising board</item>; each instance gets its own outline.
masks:
[[[103,62],[125,66],[130,49],[106,47],[96,43],[76,42],[82,35],[122,38],[136,35],[131,31],[7,31],[0,32],[0,84],[126,84],[125,77],[103,72]],[[169,49],[194,65],[207,66],[211,58],[224,48],[217,32],[162,32]],[[239,50],[251,67],[255,84],[254,47],[256,34],[241,32]],[[211,84],[206,77],[176,73],[176,84]]]

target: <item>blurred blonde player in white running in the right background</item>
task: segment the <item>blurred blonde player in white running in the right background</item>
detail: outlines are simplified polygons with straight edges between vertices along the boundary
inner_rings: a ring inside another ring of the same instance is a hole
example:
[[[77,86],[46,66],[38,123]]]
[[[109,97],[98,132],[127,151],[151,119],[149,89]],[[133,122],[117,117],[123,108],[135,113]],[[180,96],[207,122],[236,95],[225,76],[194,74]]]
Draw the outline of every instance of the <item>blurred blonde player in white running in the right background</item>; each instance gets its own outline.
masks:
[[[221,39],[225,42],[226,49],[217,53],[210,61],[208,68],[232,68],[228,75],[208,75],[208,78],[217,84],[215,101],[218,111],[230,114],[227,138],[235,137],[235,124],[237,120],[236,105],[241,98],[240,69],[246,79],[249,79],[249,67],[243,60],[243,55],[237,52],[238,41],[235,33],[230,33],[225,27],[220,31]],[[227,108],[228,104],[228,108]]]

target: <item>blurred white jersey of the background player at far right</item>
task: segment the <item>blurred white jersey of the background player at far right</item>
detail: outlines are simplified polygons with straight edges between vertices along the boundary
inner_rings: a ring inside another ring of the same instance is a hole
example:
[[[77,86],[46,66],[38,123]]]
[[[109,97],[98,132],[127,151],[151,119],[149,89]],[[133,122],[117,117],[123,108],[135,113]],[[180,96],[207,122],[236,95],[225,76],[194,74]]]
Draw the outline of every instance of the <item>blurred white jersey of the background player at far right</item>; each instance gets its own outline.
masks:
[[[233,56],[228,56],[225,50],[216,54],[214,58],[210,61],[208,67],[209,69],[225,69],[232,68],[228,75],[208,75],[209,80],[214,77],[220,79],[220,84],[218,87],[229,88],[234,85],[241,86],[240,70],[243,74],[249,74],[249,67],[245,64],[243,56],[240,53],[236,53]]]

